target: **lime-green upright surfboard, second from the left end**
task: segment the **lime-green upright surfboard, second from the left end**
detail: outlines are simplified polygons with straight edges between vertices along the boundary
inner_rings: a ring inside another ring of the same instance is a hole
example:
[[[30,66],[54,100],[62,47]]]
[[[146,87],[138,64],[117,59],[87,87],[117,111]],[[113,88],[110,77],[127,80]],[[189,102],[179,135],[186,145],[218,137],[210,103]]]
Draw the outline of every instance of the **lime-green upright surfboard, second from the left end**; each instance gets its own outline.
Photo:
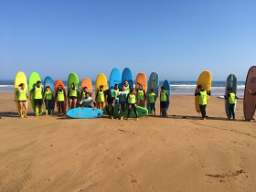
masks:
[[[29,76],[28,79],[28,90],[29,90],[29,95],[31,93],[31,91],[33,90],[34,87],[37,86],[37,80],[40,80],[39,75],[37,74],[37,72],[32,72],[31,75]],[[41,85],[42,86],[42,85]],[[35,94],[32,94],[32,98],[31,98],[31,106],[33,111],[35,112],[35,103],[34,103],[34,99],[35,99]],[[44,103],[42,104],[42,112],[44,111]],[[37,105],[37,115],[40,115],[40,110],[39,110],[39,105]]]

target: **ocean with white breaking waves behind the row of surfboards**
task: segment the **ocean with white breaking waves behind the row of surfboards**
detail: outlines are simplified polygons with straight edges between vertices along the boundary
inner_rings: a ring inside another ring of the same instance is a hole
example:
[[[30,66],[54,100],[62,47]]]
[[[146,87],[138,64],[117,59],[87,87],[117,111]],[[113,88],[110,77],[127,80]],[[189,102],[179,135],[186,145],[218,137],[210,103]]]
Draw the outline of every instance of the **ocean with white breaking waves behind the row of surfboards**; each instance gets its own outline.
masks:
[[[197,81],[196,80],[169,80],[171,84],[171,93],[176,95],[194,95]],[[14,80],[0,80],[0,92],[12,92],[14,91]],[[68,81],[63,81],[67,87]],[[160,85],[163,81],[160,80]],[[212,95],[224,95],[225,80],[213,80],[211,83]],[[43,84],[43,83],[42,83]],[[92,81],[94,88],[95,81]],[[237,95],[243,96],[245,81],[238,81]]]

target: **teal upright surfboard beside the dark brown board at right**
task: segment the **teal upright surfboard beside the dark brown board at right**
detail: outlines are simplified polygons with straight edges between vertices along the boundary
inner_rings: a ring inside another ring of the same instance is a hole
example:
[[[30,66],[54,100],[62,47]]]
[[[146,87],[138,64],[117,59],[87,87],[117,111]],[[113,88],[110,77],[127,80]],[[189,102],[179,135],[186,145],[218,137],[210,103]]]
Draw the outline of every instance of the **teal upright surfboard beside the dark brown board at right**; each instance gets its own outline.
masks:
[[[228,93],[229,88],[232,89],[233,93],[237,95],[237,77],[234,74],[230,74],[226,80],[226,86],[225,86],[226,96],[229,94]],[[235,110],[236,110],[236,105],[235,105]],[[229,99],[225,100],[225,111],[226,111],[227,117],[229,117]]]

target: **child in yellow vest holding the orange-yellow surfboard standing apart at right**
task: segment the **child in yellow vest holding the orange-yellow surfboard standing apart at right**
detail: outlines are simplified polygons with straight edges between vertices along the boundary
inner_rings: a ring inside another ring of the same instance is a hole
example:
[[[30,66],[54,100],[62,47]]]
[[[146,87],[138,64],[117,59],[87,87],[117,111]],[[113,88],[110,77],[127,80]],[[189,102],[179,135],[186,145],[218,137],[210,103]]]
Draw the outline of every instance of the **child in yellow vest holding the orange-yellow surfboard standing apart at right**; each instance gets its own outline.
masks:
[[[208,104],[208,96],[210,96],[210,91],[205,91],[202,85],[198,85],[197,89],[199,91],[195,92],[195,96],[199,95],[199,107],[202,114],[202,119],[206,120],[206,107]]]

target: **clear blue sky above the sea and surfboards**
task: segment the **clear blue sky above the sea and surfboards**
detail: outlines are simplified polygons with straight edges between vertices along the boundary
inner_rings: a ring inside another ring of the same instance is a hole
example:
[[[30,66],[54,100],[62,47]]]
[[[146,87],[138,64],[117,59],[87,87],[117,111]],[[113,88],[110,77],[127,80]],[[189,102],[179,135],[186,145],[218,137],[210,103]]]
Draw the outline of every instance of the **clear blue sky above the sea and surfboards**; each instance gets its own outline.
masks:
[[[255,10],[255,0],[3,0],[0,80],[19,70],[95,80],[126,66],[161,80],[197,80],[205,69],[245,80],[256,65]]]

